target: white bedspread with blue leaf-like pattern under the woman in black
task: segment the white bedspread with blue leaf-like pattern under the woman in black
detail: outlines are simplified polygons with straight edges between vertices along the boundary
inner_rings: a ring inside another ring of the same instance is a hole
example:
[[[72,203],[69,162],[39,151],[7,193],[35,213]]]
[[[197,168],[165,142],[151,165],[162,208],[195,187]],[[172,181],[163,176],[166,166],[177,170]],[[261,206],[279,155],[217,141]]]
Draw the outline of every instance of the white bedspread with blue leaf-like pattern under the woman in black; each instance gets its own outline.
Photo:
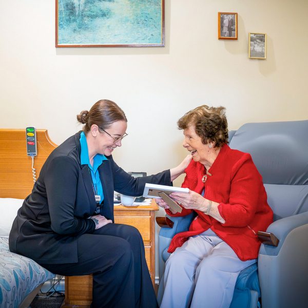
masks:
[[[9,251],[9,239],[0,237],[0,307],[18,308],[38,285],[55,275],[33,260]]]

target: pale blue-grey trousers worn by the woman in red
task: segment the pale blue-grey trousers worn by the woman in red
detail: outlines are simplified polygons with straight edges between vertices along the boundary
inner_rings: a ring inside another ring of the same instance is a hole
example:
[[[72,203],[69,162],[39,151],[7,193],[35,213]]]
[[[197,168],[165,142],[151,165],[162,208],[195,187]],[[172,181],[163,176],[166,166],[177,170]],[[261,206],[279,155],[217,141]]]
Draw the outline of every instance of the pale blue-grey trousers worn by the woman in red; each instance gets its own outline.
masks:
[[[210,229],[190,237],[166,262],[160,307],[228,308],[240,271],[256,261],[241,261]]]

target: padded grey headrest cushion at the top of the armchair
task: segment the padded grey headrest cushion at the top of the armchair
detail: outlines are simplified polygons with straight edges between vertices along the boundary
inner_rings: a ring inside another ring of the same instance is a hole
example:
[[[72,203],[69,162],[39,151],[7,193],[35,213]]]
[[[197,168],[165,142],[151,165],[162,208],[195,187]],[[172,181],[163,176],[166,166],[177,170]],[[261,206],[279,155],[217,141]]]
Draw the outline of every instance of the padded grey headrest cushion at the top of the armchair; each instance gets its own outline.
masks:
[[[247,123],[229,146],[251,154],[264,184],[308,184],[308,120]]]

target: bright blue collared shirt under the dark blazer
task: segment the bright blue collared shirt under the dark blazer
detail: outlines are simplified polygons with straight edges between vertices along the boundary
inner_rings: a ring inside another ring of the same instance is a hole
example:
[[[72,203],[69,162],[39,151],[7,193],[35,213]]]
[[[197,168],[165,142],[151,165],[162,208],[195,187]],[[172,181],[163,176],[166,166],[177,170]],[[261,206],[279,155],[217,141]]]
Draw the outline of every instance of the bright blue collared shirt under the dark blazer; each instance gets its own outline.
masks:
[[[101,203],[104,200],[104,192],[98,168],[104,160],[107,160],[107,158],[102,154],[95,155],[93,158],[93,167],[92,167],[89,160],[88,144],[84,132],[80,134],[80,145],[81,145],[81,156],[80,156],[81,164],[89,166],[93,182],[94,194],[101,196],[101,201],[99,202]]]

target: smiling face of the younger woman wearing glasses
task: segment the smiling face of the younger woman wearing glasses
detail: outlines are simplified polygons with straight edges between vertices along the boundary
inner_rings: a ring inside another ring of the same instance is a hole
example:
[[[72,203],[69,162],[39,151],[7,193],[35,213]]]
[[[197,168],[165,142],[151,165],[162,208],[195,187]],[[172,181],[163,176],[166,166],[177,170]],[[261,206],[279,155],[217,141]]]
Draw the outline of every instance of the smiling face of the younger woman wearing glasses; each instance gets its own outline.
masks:
[[[125,134],[127,128],[127,122],[116,121],[113,122],[105,131],[98,128],[95,137],[95,152],[103,154],[105,156],[111,155],[112,151],[122,145],[122,139],[115,141],[114,139],[122,137]],[[113,138],[114,139],[113,139]]]

